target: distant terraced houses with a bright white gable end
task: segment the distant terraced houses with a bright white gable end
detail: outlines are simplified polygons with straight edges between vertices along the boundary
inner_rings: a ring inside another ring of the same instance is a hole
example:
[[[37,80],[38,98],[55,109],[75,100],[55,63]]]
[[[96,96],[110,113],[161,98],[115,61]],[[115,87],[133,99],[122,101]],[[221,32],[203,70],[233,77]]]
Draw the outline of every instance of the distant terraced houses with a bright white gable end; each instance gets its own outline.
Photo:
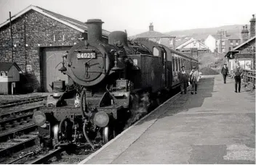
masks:
[[[204,43],[212,53],[226,53],[238,46],[241,43],[241,39],[239,36],[228,35],[226,31],[223,31],[221,34],[208,35]]]

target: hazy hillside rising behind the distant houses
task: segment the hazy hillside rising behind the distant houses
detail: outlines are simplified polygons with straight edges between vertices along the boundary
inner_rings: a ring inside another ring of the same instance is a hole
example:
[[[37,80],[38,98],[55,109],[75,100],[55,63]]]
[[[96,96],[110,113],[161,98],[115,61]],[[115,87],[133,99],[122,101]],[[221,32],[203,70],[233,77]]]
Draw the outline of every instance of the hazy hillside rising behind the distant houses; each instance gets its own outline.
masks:
[[[177,38],[183,37],[193,37],[196,39],[205,39],[210,34],[216,34],[218,30],[227,30],[228,34],[233,34],[240,36],[240,32],[243,25],[226,25],[220,27],[211,27],[211,28],[198,28],[198,29],[191,29],[191,30],[175,30],[164,33],[166,35],[173,35]],[[248,25],[249,29],[249,25]]]

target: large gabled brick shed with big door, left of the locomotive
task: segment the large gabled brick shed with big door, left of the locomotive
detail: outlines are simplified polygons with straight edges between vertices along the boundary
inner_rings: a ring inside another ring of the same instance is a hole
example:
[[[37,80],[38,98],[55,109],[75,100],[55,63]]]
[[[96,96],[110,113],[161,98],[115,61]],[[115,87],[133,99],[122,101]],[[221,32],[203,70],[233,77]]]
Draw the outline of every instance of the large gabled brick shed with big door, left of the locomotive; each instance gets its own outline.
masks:
[[[12,42],[9,19],[0,24],[0,62],[16,62],[32,77],[33,90],[51,92],[49,84],[59,79],[69,83],[59,63],[71,46],[87,39],[87,25],[33,5],[13,15],[11,24]],[[109,32],[102,33],[108,42]]]

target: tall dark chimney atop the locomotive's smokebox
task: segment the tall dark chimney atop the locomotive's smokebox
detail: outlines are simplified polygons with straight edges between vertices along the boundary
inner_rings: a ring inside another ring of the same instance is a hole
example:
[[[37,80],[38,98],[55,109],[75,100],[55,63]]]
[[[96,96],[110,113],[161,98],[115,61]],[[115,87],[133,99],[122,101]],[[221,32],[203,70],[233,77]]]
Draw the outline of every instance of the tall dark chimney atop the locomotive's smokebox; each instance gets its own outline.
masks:
[[[102,41],[102,25],[104,22],[102,22],[99,19],[93,19],[93,20],[87,20],[85,22],[87,24],[87,36],[88,36],[88,41],[91,42],[97,42],[97,41]]]

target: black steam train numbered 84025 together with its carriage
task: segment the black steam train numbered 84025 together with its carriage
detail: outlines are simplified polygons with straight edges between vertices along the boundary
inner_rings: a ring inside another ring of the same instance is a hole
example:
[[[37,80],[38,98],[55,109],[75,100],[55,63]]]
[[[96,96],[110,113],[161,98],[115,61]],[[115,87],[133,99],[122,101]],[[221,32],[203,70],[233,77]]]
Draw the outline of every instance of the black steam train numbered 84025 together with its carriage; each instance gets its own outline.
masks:
[[[33,114],[44,146],[89,143],[95,148],[107,143],[179,87],[182,65],[187,70],[198,66],[193,57],[159,43],[128,41],[122,31],[110,33],[106,43],[102,24],[88,20],[87,40],[63,56],[60,72],[73,85]],[[63,86],[60,82],[52,88]]]

